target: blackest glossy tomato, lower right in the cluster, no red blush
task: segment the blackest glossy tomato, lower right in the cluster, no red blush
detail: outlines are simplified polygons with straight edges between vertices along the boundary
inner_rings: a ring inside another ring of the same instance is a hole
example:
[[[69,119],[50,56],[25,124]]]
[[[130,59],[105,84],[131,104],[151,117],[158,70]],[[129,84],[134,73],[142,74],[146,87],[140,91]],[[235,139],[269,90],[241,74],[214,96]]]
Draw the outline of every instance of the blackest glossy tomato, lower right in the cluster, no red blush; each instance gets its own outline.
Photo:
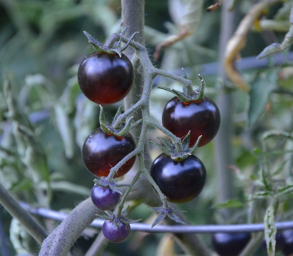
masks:
[[[176,161],[165,153],[154,160],[150,174],[172,203],[186,203],[197,197],[207,176],[204,164],[196,156]]]

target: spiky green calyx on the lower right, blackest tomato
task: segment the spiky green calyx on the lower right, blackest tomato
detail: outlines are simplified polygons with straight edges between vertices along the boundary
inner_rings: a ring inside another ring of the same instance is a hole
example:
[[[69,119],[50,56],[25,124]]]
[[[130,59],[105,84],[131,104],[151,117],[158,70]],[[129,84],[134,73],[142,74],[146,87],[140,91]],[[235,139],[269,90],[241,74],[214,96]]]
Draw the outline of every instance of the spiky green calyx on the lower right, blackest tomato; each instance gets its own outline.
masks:
[[[160,150],[162,150],[166,155],[170,156],[173,160],[180,160],[180,159],[185,159],[186,157],[191,155],[193,152],[195,152],[201,137],[202,136],[198,137],[193,147],[189,147],[189,143],[190,143],[190,131],[189,131],[181,142],[182,149],[183,149],[182,152],[178,152],[176,150],[176,147],[171,142],[161,137],[157,137],[157,138],[161,140],[164,146],[154,141],[150,141],[150,142],[156,145]]]

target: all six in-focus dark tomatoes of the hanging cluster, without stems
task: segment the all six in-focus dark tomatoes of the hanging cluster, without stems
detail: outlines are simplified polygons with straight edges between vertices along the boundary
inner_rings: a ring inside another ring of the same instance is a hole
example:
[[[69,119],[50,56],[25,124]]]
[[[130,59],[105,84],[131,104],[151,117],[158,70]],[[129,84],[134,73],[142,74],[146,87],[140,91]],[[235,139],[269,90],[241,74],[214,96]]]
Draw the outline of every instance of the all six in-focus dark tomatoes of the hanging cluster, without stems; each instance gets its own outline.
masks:
[[[119,56],[95,51],[81,61],[78,69],[81,91],[88,99],[100,105],[113,104],[123,99],[130,91],[133,80],[132,63],[124,54]],[[217,105],[207,96],[189,102],[181,102],[178,97],[174,97],[163,110],[162,123],[182,139],[190,132],[189,147],[193,147],[202,135],[198,146],[203,146],[216,135],[220,113]],[[86,138],[82,147],[82,159],[93,175],[106,177],[110,169],[135,148],[130,133],[121,137],[98,128]],[[126,161],[113,178],[127,173],[134,161],[135,156]],[[192,154],[184,159],[174,159],[162,153],[154,160],[150,174],[168,201],[174,203],[193,200],[202,191],[206,180],[204,164]],[[95,184],[91,198],[96,207],[108,211],[120,202],[118,191],[107,185]],[[113,219],[106,220],[102,228],[104,236],[114,243],[124,241],[130,233],[129,223],[120,221],[118,224],[116,221],[114,225]]]

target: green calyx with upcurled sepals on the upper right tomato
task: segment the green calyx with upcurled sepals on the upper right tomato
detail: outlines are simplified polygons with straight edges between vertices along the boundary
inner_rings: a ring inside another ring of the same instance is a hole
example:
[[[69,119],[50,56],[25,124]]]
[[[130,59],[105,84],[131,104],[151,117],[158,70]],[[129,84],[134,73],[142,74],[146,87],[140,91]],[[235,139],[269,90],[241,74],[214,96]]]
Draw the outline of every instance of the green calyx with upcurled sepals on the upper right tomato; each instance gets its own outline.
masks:
[[[183,71],[182,77],[187,79],[187,74],[185,72],[185,69],[182,68],[182,71]],[[157,88],[166,90],[168,92],[172,92],[182,102],[197,101],[203,98],[204,92],[205,92],[205,80],[202,78],[200,74],[198,75],[198,78],[200,79],[201,85],[196,90],[193,90],[191,84],[186,84],[186,85],[183,84],[182,85],[183,92],[177,91],[175,89],[161,87],[161,86],[158,86]]]

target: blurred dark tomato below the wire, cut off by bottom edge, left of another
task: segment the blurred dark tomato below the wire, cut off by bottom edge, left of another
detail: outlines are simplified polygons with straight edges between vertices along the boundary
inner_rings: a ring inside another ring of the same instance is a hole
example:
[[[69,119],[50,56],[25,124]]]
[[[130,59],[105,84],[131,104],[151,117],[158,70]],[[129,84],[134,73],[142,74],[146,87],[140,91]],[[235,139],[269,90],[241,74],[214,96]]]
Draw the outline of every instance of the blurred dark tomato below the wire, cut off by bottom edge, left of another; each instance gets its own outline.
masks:
[[[237,256],[250,238],[250,233],[216,233],[212,236],[212,244],[220,256]]]

